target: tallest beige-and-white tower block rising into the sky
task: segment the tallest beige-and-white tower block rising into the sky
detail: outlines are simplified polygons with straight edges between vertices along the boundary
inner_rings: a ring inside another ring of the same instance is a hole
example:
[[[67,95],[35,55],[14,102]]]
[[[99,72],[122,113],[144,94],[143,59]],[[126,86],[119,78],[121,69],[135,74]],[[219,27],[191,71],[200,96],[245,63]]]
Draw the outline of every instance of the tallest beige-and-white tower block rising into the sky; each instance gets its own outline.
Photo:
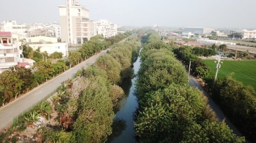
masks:
[[[66,0],[66,6],[58,7],[61,17],[61,41],[83,44],[89,40],[89,10],[75,0]]]

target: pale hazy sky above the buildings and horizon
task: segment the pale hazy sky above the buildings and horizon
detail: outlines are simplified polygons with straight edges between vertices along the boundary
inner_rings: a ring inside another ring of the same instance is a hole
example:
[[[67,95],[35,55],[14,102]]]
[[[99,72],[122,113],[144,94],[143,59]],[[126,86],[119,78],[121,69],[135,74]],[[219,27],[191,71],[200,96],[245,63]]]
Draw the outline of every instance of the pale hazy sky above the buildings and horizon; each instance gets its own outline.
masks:
[[[78,0],[90,20],[119,25],[256,28],[256,0]],[[1,0],[0,22],[60,22],[65,0]]]

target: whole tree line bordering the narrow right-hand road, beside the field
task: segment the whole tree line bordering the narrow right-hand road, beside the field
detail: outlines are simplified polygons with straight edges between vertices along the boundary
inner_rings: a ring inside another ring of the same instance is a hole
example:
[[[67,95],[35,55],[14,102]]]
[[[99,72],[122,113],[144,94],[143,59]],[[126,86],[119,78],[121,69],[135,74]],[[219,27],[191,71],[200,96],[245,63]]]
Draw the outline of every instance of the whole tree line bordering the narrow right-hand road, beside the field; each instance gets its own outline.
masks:
[[[214,79],[209,77],[210,69],[207,64],[193,52],[191,53],[190,47],[182,46],[174,48],[173,51],[177,59],[187,67],[191,61],[193,73],[204,80],[205,88],[212,93],[212,98],[221,106],[230,121],[239,128],[245,137],[255,142],[256,93],[253,87],[244,86],[241,82],[232,79],[232,74],[214,82]]]

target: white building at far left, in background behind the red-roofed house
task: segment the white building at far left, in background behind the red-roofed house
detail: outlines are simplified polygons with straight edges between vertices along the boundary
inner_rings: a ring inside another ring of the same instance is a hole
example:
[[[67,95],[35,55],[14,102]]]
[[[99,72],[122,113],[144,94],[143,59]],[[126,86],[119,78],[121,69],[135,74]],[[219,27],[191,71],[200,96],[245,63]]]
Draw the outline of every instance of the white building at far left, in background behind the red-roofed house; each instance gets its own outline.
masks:
[[[23,39],[28,37],[29,27],[26,24],[17,24],[14,20],[6,20],[1,23],[0,31],[18,34],[19,38]]]

